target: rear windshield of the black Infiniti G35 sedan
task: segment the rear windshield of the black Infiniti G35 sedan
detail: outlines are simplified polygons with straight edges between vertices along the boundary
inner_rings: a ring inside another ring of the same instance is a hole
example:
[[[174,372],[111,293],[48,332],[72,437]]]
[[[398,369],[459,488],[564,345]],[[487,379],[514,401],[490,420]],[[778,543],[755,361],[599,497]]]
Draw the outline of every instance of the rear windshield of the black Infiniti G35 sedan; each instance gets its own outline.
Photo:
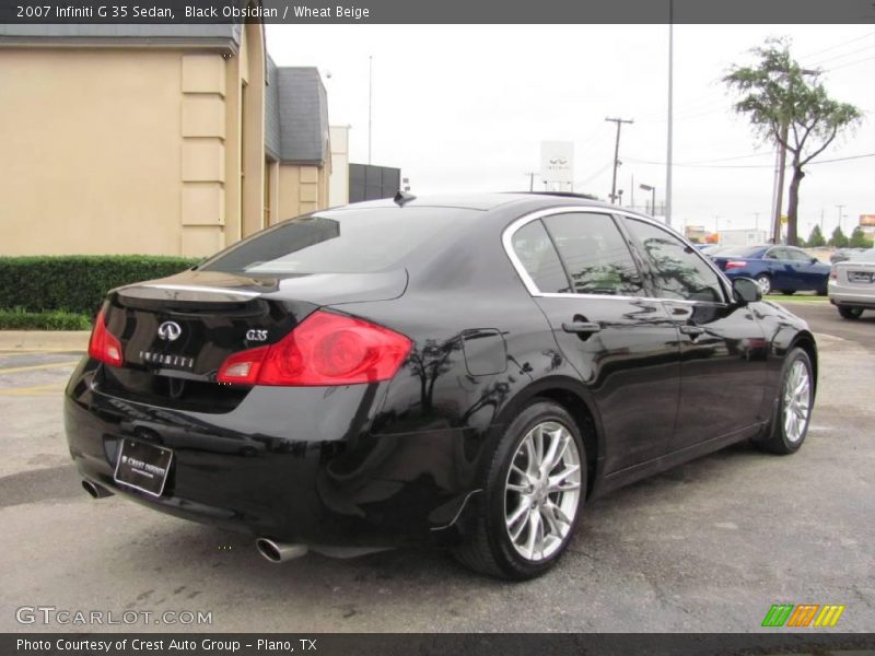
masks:
[[[253,235],[199,269],[252,274],[381,271],[442,233],[464,230],[465,219],[476,213],[458,208],[320,212]]]

